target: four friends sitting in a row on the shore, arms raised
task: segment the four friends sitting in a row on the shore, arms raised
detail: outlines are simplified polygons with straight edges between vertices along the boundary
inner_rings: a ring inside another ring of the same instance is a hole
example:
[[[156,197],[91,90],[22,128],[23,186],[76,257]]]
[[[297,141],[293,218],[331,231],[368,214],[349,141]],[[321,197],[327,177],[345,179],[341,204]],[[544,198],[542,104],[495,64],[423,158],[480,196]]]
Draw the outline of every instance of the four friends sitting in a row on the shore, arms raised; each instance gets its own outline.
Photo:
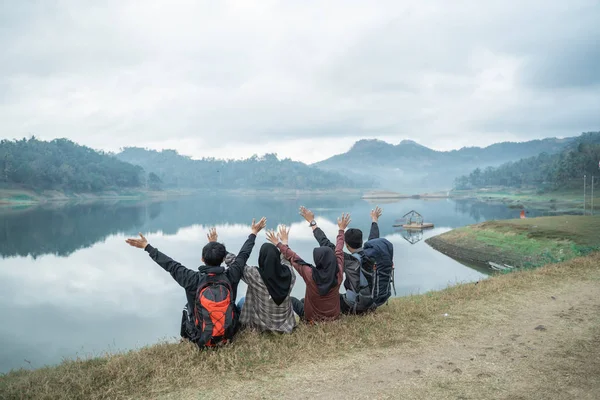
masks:
[[[264,217],[252,221],[251,233],[237,255],[227,252],[218,242],[216,229],[211,228],[198,270],[161,253],[141,233],[139,239],[126,242],[144,249],[185,289],[181,337],[200,348],[214,347],[230,342],[240,329],[291,333],[297,326],[295,315],[309,323],[331,321],[340,314],[363,314],[385,304],[391,295],[393,246],[379,237],[381,214],[379,207],[371,211],[365,243],[361,230],[348,229],[350,215],[342,214],[334,244],[318,227],[314,213],[300,207],[300,215],[319,243],[313,250],[312,264],[289,247],[289,228],[279,226],[277,231],[267,231],[268,242],[260,248],[258,266],[247,265],[256,236],[266,227]],[[291,296],[296,273],[306,284],[301,300]],[[240,280],[248,288],[236,304]],[[340,294],[342,281],[345,292]]]

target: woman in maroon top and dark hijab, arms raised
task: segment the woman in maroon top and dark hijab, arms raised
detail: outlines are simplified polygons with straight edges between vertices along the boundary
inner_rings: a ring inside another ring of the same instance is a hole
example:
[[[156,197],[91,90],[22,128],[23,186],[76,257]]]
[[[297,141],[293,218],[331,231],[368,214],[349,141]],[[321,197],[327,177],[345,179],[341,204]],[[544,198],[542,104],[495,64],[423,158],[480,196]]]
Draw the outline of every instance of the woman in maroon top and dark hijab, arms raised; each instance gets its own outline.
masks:
[[[283,226],[279,233],[267,232],[267,239],[277,245],[281,254],[292,264],[306,283],[304,299],[292,298],[292,306],[300,318],[309,322],[329,321],[340,316],[339,288],[344,271],[344,231],[350,223],[350,215],[338,219],[338,235],[335,251],[330,247],[313,250],[314,265],[305,262],[288,246],[289,230]]]

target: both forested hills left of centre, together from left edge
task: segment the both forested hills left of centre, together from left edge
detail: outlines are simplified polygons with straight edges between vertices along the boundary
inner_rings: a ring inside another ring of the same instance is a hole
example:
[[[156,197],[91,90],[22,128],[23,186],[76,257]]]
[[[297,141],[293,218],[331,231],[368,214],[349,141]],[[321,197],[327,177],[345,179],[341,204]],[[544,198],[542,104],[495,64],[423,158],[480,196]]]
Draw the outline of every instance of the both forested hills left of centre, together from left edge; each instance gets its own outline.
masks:
[[[67,139],[0,141],[0,188],[93,193],[165,188],[331,189],[348,178],[275,154],[246,160],[193,160],[174,150],[96,151]]]

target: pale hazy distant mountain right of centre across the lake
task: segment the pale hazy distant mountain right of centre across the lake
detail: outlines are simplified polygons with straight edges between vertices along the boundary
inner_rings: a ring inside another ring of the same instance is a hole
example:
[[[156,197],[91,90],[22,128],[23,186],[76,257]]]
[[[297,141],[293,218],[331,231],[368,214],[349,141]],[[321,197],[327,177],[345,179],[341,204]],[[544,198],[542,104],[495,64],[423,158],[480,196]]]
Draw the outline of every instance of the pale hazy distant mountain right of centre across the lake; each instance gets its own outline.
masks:
[[[454,179],[474,168],[498,166],[540,153],[560,152],[574,138],[503,142],[491,146],[437,151],[412,140],[393,145],[381,140],[360,140],[343,154],[313,164],[337,171],[356,181],[374,180],[374,186],[397,192],[449,190]]]

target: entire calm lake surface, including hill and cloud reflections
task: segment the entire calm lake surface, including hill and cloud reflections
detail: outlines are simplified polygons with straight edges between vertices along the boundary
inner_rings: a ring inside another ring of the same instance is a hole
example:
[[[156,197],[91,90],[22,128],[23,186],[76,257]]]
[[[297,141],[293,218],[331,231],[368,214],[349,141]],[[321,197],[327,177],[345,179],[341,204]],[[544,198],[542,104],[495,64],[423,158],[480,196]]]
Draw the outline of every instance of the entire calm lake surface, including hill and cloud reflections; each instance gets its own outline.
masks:
[[[361,199],[205,195],[162,202],[112,202],[0,210],[0,373],[39,368],[63,358],[100,355],[161,339],[177,340],[185,295],[148,255],[125,244],[143,232],[150,243],[195,269],[209,227],[236,253],[252,218],[268,227],[291,226],[290,247],[310,259],[316,241],[298,215],[315,211],[330,239],[335,219],[352,214],[351,227],[368,236],[374,204]],[[381,235],[395,246],[398,296],[424,293],[485,278],[489,271],[465,266],[431,249],[424,240],[452,228],[489,219],[518,217],[519,210],[469,201],[402,200],[379,205]],[[410,210],[436,228],[421,239],[392,227]],[[535,215],[535,213],[532,213]],[[259,235],[249,263],[256,265]],[[239,296],[246,287],[240,284]],[[302,297],[301,279],[293,294]]]

